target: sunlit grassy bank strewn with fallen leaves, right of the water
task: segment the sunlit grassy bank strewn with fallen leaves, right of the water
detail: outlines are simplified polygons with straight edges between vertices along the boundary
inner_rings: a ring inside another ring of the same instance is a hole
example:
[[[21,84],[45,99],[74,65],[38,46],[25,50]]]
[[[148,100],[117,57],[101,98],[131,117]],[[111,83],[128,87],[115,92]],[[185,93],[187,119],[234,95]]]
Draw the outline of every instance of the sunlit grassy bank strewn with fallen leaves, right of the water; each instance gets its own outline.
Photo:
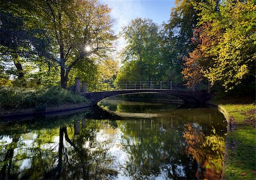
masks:
[[[225,111],[229,123],[222,178],[255,179],[255,103],[224,102],[214,102]]]

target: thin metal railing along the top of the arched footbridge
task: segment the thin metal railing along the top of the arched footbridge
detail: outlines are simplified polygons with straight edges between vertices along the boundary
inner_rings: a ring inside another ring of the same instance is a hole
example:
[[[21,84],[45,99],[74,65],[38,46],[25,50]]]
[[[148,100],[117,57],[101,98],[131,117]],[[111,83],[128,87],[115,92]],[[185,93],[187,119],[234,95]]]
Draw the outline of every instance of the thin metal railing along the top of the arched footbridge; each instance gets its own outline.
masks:
[[[99,91],[112,91],[112,90],[133,90],[133,89],[166,89],[166,90],[186,90],[188,89],[183,83],[177,83],[172,81],[127,81],[120,82],[117,85],[112,83],[93,83],[88,84],[86,88],[88,92],[99,92]],[[209,92],[208,85],[201,83],[196,86],[195,91]]]

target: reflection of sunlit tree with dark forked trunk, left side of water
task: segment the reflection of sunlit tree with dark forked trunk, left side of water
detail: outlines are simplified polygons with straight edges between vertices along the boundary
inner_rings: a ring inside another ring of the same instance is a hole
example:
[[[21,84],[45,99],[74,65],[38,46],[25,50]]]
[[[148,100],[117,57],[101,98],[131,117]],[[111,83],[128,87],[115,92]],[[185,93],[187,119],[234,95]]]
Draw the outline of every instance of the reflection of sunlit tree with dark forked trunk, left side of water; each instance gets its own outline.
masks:
[[[112,160],[100,148],[85,148],[93,141],[94,124],[74,129],[61,127],[16,135],[13,143],[0,145],[1,179],[106,179],[117,174]],[[89,129],[91,129],[89,131]],[[59,136],[59,140],[56,137]],[[26,141],[30,141],[30,144]],[[32,142],[32,143],[31,143]]]

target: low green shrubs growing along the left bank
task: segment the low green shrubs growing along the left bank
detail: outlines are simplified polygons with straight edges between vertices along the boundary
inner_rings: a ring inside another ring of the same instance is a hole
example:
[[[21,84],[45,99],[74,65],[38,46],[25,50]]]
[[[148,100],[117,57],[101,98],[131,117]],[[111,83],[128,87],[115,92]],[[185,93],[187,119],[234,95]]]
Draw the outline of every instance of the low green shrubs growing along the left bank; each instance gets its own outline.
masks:
[[[32,107],[42,110],[46,107],[65,103],[86,102],[86,99],[80,95],[72,94],[60,87],[50,87],[36,91],[17,87],[1,87],[0,97],[2,109]]]

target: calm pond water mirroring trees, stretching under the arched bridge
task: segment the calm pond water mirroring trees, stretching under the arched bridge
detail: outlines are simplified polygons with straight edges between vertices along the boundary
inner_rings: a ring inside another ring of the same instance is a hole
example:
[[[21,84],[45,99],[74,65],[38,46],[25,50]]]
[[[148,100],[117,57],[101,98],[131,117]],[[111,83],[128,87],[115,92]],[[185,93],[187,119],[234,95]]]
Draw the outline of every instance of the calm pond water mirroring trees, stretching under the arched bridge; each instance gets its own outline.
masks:
[[[104,108],[0,124],[0,179],[218,179],[216,108],[109,98]]]

